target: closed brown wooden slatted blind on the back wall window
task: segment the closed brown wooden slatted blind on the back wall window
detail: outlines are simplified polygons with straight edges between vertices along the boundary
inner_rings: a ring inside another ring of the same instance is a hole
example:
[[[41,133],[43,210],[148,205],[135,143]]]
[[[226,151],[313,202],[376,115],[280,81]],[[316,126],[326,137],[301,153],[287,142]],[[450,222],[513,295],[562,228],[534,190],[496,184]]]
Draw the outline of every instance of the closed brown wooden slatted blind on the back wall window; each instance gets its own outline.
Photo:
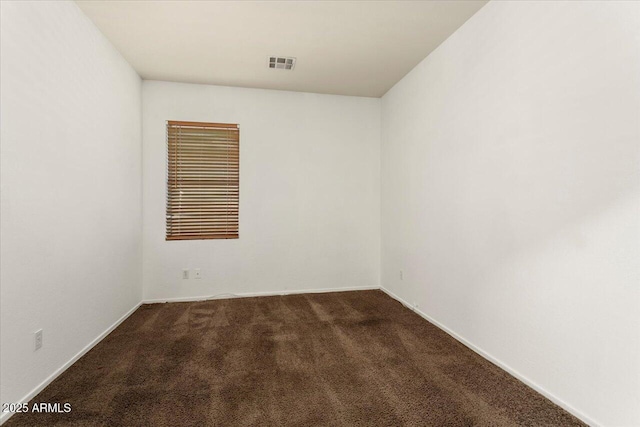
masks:
[[[237,239],[240,130],[167,122],[167,240]]]

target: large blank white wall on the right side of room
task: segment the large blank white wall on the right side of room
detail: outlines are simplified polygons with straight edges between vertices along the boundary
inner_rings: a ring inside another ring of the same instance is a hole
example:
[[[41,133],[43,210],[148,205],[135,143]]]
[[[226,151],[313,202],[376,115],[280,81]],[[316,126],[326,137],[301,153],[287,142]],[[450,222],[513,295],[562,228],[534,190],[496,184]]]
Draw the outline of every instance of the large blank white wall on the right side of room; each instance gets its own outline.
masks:
[[[640,425],[640,3],[491,2],[382,117],[382,285]]]

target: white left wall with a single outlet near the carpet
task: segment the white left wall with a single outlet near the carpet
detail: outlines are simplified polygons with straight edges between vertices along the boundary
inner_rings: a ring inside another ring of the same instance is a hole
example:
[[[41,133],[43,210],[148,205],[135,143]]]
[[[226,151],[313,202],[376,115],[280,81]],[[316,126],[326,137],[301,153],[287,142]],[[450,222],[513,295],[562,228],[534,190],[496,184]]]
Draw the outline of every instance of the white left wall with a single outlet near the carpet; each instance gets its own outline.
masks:
[[[0,5],[0,402],[18,402],[142,298],[141,81],[75,3]]]

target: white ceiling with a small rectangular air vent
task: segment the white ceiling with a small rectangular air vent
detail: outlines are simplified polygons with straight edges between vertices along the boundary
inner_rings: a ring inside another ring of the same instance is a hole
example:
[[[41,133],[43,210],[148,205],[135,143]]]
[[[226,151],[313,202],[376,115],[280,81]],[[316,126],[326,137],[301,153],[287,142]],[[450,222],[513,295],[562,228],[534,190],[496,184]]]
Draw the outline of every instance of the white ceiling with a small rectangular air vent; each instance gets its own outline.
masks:
[[[379,97],[486,1],[77,3],[144,79]]]

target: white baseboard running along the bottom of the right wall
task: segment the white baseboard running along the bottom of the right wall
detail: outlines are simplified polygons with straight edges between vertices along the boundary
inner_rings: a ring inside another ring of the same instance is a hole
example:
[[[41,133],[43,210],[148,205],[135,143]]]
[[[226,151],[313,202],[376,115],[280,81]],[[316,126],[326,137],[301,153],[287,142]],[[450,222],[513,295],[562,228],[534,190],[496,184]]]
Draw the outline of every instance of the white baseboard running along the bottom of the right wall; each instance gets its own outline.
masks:
[[[526,376],[522,375],[521,373],[519,373],[515,369],[511,368],[506,363],[504,363],[501,360],[493,357],[492,355],[490,355],[486,351],[482,350],[481,348],[479,348],[479,347],[475,346],[474,344],[472,344],[471,342],[467,341],[464,337],[458,335],[456,332],[454,332],[451,329],[447,328],[445,325],[443,325],[442,323],[438,322],[433,317],[431,317],[428,314],[420,311],[419,309],[411,306],[411,304],[409,304],[404,299],[400,298],[398,295],[394,294],[390,290],[385,289],[384,287],[381,287],[380,290],[382,290],[382,292],[386,293],[391,298],[395,299],[396,301],[398,301],[399,303],[401,303],[402,305],[404,305],[408,309],[414,311],[419,316],[421,316],[424,319],[426,319],[427,321],[429,321],[429,323],[432,323],[433,325],[435,325],[438,328],[442,329],[444,332],[446,332],[447,334],[451,335],[457,341],[459,341],[460,343],[464,344],[466,347],[468,347],[469,349],[473,350],[474,352],[478,353],[480,356],[484,357],[489,362],[491,362],[494,365],[497,365],[498,367],[500,367],[501,369],[507,371],[509,374],[511,374],[512,376],[516,377],[517,379],[519,379],[520,381],[522,381],[523,383],[525,383],[526,385],[528,385],[529,387],[531,387],[532,389],[534,389],[535,391],[537,391],[538,393],[540,393],[541,395],[543,395],[544,397],[546,397],[547,399],[549,399],[550,401],[552,401],[553,403],[555,403],[556,405],[558,405],[559,407],[564,409],[565,411],[569,412],[571,415],[575,416],[576,418],[580,419],[581,421],[587,423],[588,425],[590,425],[592,427],[599,427],[600,426],[599,423],[597,423],[592,418],[588,417],[586,414],[582,413],[581,411],[579,411],[576,408],[574,408],[573,406],[569,405],[567,402],[563,401],[559,397],[557,397],[557,396],[553,395],[552,393],[550,393],[549,391],[545,390],[540,385],[536,384],[531,379],[527,378]]]

